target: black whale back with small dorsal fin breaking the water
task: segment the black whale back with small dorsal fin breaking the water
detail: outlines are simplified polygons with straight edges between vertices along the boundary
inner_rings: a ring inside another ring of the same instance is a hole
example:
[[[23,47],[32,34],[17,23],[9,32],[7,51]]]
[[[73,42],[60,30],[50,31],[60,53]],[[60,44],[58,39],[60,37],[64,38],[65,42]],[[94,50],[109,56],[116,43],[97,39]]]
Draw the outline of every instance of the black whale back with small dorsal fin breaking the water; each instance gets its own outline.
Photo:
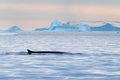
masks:
[[[31,55],[33,53],[39,53],[39,54],[65,54],[67,52],[60,52],[60,51],[31,51],[27,49],[28,55]]]

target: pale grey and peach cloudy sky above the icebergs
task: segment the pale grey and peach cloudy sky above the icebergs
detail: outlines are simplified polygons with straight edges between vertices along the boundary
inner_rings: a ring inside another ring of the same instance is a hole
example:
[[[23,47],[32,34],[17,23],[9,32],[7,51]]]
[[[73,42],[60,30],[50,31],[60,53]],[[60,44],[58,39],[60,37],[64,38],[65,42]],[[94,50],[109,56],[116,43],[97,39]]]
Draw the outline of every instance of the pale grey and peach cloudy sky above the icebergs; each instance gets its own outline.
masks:
[[[24,30],[61,22],[117,22],[120,0],[0,0],[0,29],[20,26]]]

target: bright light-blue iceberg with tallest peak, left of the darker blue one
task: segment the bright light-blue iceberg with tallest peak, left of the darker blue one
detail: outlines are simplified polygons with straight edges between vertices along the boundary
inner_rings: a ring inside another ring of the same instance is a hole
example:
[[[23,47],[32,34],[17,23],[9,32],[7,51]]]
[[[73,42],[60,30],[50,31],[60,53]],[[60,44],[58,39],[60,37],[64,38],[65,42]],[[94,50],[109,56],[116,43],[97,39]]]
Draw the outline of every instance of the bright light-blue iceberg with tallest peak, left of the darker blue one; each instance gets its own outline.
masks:
[[[61,23],[58,20],[54,20],[49,28],[38,28],[35,31],[55,31],[55,32],[80,32],[91,31],[90,27],[84,24],[72,25],[70,22]]]

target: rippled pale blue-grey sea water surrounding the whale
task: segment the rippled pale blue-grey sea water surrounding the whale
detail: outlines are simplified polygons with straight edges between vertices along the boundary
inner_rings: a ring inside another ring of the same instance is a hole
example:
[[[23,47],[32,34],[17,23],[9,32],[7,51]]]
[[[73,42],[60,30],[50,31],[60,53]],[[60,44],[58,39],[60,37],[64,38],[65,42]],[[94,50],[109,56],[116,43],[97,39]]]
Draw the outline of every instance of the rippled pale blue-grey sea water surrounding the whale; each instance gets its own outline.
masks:
[[[71,54],[27,55],[27,50]],[[116,32],[22,32],[0,35],[0,80],[119,80]]]

